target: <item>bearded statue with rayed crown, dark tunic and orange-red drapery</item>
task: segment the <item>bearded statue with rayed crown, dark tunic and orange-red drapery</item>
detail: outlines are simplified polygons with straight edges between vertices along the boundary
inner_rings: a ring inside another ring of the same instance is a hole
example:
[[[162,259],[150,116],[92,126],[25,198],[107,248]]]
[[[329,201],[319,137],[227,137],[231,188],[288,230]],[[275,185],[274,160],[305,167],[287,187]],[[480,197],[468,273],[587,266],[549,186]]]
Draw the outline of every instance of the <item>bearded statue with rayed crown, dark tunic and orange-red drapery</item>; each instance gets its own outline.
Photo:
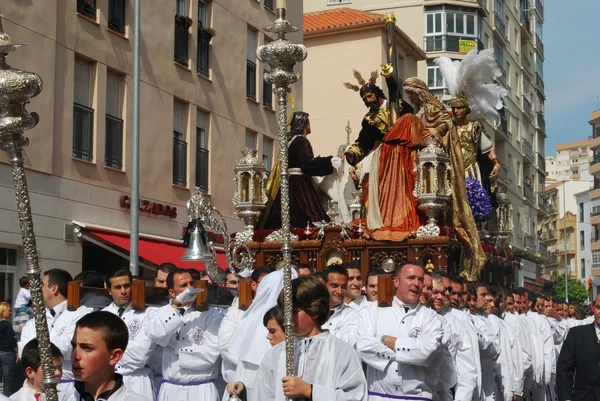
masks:
[[[421,226],[413,189],[416,151],[423,147],[423,124],[412,114],[412,107],[397,99],[393,67],[382,65],[390,100],[376,85],[379,73],[373,71],[368,81],[354,71],[358,85],[344,85],[359,92],[369,111],[362,120],[358,139],[344,156],[355,166],[353,179],[362,188],[362,202],[367,210],[364,237],[375,240],[403,241]],[[356,225],[365,221],[355,221]]]

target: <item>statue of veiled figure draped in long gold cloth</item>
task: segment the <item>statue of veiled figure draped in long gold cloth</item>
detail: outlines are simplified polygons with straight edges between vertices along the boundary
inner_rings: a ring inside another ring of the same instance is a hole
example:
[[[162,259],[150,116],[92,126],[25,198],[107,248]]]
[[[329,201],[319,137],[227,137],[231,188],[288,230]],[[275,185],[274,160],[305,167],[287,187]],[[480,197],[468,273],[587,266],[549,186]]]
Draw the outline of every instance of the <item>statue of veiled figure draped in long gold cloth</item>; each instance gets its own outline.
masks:
[[[467,201],[464,159],[456,127],[444,105],[431,93],[425,82],[416,77],[408,78],[404,83],[404,92],[416,107],[416,115],[422,121],[425,135],[436,136],[450,156],[452,207],[446,213],[446,222],[451,223],[463,245],[462,275],[469,281],[476,281],[486,256]]]

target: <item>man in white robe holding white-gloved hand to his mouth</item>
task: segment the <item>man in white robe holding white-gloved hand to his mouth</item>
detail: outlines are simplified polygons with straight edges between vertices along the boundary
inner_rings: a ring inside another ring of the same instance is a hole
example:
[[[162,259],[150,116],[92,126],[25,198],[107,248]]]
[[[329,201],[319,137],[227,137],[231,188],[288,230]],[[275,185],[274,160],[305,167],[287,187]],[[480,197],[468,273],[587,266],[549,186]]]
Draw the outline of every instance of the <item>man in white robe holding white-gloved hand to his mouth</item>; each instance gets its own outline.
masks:
[[[220,399],[215,380],[221,366],[217,336],[222,314],[212,307],[195,309],[192,283],[185,270],[169,273],[167,287],[174,299],[154,315],[150,338],[164,347],[158,401]]]

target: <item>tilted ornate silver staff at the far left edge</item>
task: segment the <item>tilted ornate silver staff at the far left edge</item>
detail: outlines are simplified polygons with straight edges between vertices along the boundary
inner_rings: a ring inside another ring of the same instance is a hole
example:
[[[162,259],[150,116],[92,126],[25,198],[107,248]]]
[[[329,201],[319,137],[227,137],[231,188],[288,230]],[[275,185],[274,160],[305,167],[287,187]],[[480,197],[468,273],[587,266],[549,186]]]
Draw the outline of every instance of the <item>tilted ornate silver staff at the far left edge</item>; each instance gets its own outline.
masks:
[[[10,37],[2,28],[0,15],[0,148],[4,150],[12,166],[15,195],[17,198],[17,213],[21,238],[25,249],[27,276],[31,283],[31,301],[35,314],[35,330],[39,342],[40,360],[46,388],[46,399],[58,401],[56,392],[56,376],[50,353],[50,332],[46,322],[46,308],[42,297],[41,270],[38,264],[35,233],[31,217],[29,191],[25,177],[23,149],[29,140],[23,136],[25,130],[31,129],[39,122],[37,113],[29,113],[25,105],[29,99],[42,91],[42,79],[39,75],[11,68],[6,63],[6,56],[24,45],[12,44]]]

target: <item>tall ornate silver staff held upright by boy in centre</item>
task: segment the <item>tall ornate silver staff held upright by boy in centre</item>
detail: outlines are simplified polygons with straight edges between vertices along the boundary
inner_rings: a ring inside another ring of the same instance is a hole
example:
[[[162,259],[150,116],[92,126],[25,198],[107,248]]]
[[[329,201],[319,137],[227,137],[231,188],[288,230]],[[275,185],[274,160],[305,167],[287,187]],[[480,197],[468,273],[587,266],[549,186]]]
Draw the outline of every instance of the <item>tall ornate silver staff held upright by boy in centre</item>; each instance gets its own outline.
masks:
[[[283,237],[283,294],[286,375],[294,375],[294,322],[292,310],[292,246],[290,237],[290,188],[288,175],[288,139],[287,139],[287,95],[290,84],[300,80],[300,74],[294,72],[294,65],[306,58],[306,47],[285,39],[289,32],[296,32],[286,19],[286,2],[277,0],[277,19],[265,31],[277,34],[277,40],[260,46],[256,55],[263,63],[271,66],[271,72],[265,74],[268,83],[274,86],[277,95],[277,121],[279,122],[279,163],[281,176],[281,233]]]

